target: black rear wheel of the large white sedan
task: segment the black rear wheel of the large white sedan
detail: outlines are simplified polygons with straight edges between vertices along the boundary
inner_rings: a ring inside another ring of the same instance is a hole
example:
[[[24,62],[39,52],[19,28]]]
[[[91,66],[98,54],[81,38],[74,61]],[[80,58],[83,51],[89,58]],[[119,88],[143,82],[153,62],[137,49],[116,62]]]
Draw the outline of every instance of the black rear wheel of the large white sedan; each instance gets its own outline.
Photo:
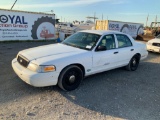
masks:
[[[139,55],[134,55],[131,58],[129,64],[126,66],[126,69],[128,71],[135,71],[135,70],[137,70],[138,65],[139,65],[139,61],[140,61],[140,56]]]

